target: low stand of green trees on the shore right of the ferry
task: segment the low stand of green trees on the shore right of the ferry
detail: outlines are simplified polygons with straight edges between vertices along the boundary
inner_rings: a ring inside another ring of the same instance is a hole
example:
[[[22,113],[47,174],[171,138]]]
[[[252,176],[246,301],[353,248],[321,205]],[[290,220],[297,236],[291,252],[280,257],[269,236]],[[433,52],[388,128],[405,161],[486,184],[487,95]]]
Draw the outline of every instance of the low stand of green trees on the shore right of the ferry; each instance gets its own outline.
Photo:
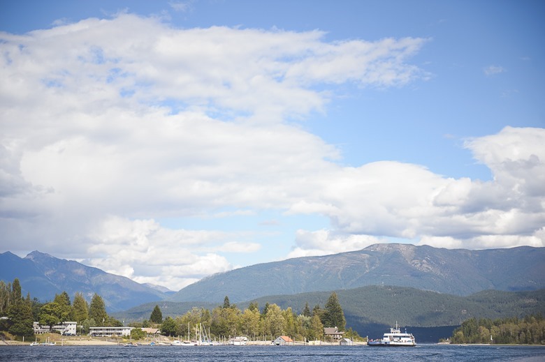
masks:
[[[523,318],[465,320],[453,331],[451,343],[545,345],[545,319],[541,314]]]

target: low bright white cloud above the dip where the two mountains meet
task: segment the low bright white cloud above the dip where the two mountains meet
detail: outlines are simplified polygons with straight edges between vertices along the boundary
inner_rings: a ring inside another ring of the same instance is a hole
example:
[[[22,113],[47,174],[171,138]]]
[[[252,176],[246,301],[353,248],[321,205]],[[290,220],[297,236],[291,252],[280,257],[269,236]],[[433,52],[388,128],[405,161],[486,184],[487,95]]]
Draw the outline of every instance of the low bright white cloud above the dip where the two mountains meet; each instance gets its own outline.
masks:
[[[233,266],[218,252],[254,252],[259,244],[238,233],[168,229],[155,220],[108,216],[87,236],[85,264],[137,282],[180,289]]]

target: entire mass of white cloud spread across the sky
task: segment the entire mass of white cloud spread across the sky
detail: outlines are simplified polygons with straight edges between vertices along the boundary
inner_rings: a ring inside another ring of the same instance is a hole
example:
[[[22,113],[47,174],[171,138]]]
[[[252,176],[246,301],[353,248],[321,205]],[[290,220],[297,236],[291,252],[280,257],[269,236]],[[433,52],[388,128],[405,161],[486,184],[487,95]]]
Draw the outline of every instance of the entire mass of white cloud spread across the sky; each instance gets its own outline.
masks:
[[[425,39],[328,43],[321,31],[174,29],[131,14],[0,38],[4,250],[41,248],[179,289],[232,268],[226,253],[261,246],[247,230],[161,218],[273,209],[331,220],[299,231],[289,256],[385,236],[543,243],[542,129],[467,140],[494,174],[484,182],[394,161],[344,167],[335,146],[286,122],[324,112],[338,84],[426,77],[408,62]]]

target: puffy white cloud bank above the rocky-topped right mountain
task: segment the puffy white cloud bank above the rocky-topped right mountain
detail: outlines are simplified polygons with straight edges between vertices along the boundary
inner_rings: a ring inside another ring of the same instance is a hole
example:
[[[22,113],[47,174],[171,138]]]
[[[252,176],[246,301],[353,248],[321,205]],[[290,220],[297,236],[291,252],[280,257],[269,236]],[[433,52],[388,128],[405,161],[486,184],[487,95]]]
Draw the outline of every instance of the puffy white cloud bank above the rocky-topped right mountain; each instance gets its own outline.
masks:
[[[545,246],[543,144],[543,128],[506,127],[468,139],[465,146],[493,173],[486,182],[395,162],[342,167],[322,179],[314,201],[296,202],[290,212],[321,213],[343,234],[416,238],[446,248]],[[344,251],[299,239],[297,255]]]

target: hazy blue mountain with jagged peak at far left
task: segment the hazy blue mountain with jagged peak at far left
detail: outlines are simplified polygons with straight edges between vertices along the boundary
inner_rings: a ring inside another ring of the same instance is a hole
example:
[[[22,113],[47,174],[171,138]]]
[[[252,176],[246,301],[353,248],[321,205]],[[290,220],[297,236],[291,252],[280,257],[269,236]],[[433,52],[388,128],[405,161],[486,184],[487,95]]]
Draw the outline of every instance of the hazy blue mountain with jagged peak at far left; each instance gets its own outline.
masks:
[[[0,280],[12,282],[19,278],[24,295],[50,301],[55,294],[66,291],[71,298],[81,292],[90,301],[97,293],[108,311],[125,310],[166,296],[157,286],[149,287],[124,276],[106,273],[73,260],[58,259],[33,251],[24,258],[11,252],[0,254]]]

